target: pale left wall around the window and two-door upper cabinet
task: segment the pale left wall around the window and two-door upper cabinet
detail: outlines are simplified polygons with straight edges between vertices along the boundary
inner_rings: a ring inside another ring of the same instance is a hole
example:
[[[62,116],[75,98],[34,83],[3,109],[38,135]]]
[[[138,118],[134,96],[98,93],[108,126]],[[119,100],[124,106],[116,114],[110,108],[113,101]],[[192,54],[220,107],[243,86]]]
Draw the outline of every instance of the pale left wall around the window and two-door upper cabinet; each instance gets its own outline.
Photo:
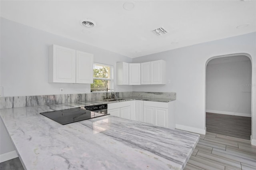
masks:
[[[89,93],[90,84],[48,83],[48,46],[61,45],[94,54],[94,62],[116,65],[131,58],[1,18],[0,86],[4,96]],[[86,64],[85,64],[86,66]],[[114,78],[115,78],[114,74]],[[132,91],[132,86],[116,86]]]

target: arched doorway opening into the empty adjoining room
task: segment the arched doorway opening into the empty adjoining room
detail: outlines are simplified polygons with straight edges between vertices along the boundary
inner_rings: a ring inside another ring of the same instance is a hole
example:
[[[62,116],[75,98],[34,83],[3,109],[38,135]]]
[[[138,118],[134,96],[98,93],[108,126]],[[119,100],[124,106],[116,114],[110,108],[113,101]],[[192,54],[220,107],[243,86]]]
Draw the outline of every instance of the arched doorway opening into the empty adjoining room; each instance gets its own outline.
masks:
[[[246,54],[206,62],[206,131],[250,140],[252,63]]]

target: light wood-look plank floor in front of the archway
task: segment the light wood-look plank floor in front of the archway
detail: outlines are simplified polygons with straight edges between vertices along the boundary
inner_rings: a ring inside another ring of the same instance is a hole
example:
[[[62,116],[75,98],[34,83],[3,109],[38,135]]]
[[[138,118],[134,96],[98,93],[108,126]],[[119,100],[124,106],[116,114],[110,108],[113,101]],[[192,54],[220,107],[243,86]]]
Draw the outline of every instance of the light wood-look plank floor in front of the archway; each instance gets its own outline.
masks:
[[[256,170],[256,146],[250,140],[206,132],[185,170]]]

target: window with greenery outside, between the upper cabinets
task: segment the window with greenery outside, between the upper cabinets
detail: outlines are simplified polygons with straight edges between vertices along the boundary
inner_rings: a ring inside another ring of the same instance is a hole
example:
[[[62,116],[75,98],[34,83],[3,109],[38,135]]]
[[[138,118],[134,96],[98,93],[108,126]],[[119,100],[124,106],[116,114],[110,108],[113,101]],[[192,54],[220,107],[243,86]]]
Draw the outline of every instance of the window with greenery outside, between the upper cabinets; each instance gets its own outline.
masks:
[[[94,63],[93,65],[93,84],[91,84],[91,91],[110,91],[113,89],[111,65],[104,65]]]

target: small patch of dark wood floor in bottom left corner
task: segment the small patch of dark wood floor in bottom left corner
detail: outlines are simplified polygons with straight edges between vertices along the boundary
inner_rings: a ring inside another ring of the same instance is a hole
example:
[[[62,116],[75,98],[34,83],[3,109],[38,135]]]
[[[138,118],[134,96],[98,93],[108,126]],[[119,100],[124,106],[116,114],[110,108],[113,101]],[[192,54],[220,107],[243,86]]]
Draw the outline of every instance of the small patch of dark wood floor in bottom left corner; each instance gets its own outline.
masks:
[[[20,158],[14,158],[0,163],[0,170],[24,170]]]

